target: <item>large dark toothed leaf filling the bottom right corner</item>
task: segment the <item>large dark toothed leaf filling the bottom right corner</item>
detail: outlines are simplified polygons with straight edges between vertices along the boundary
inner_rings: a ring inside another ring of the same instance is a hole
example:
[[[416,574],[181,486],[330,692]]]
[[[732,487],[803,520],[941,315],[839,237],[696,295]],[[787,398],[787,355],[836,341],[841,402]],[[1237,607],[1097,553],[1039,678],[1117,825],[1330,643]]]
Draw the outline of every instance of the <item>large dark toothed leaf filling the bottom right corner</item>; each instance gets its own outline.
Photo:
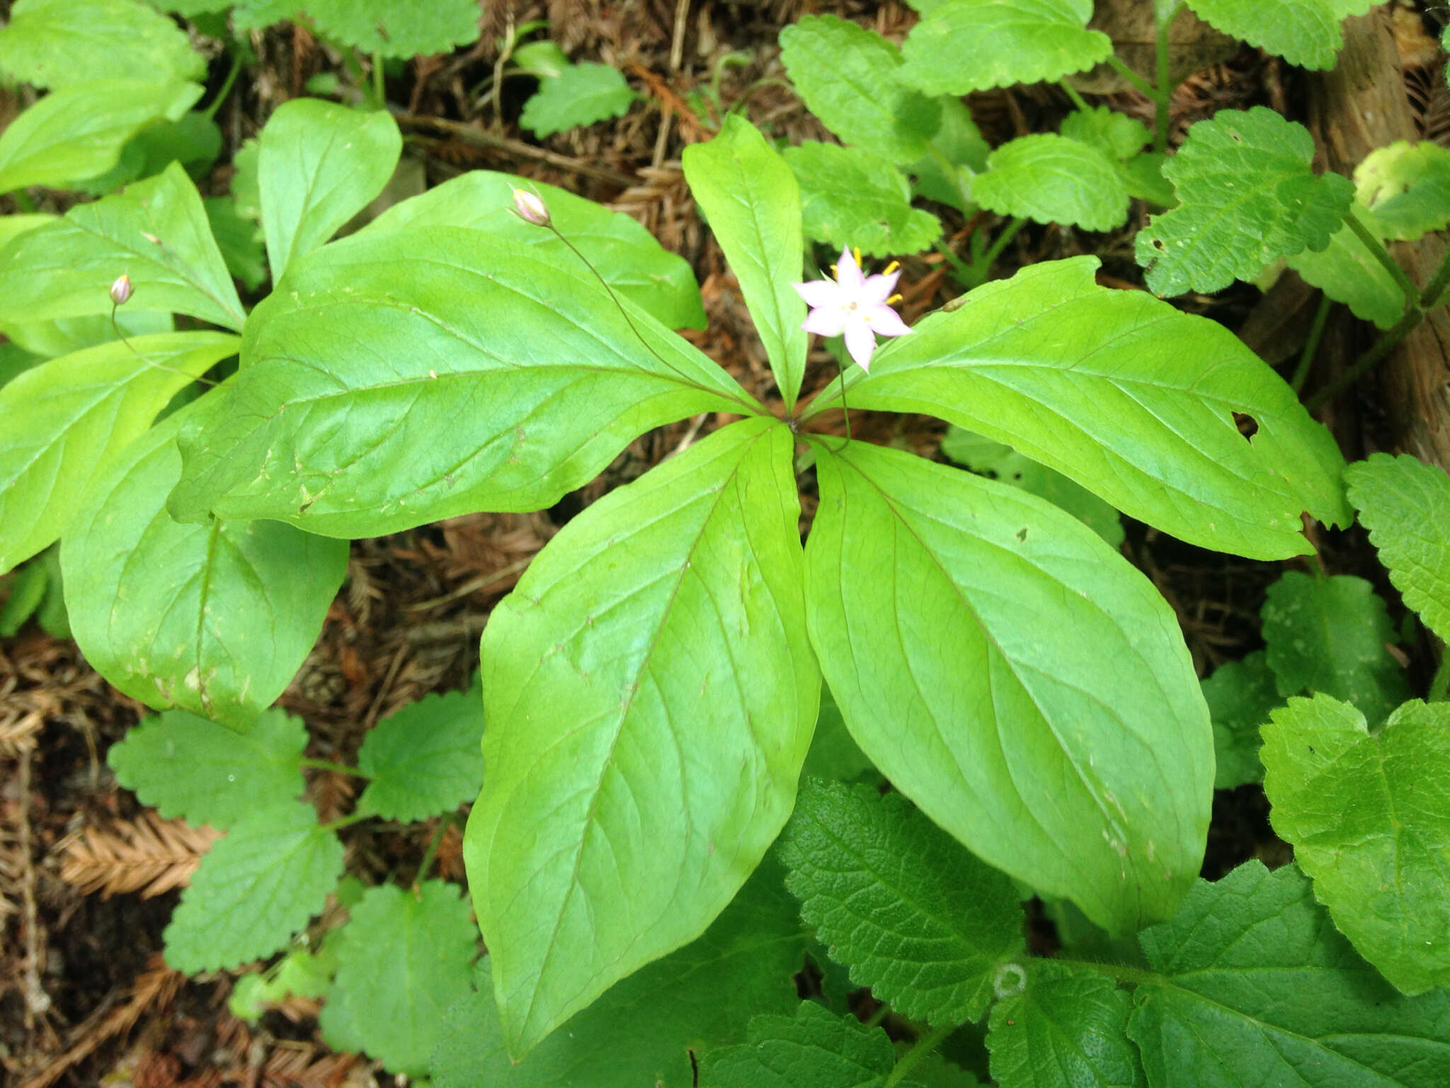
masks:
[[[1292,865],[1199,881],[1140,941],[1163,975],[1138,986],[1128,1020],[1150,1085],[1444,1084],[1450,991],[1395,992]]]

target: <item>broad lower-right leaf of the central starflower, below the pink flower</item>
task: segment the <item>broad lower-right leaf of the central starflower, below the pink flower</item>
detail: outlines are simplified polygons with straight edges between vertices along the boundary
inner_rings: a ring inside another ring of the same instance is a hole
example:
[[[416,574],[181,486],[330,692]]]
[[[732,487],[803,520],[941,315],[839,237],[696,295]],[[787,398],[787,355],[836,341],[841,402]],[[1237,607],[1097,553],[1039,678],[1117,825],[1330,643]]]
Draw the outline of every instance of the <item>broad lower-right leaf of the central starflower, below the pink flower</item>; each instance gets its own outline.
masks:
[[[895,450],[815,448],[811,640],[861,750],[979,857],[1099,926],[1172,915],[1214,785],[1173,611],[1043,499]]]

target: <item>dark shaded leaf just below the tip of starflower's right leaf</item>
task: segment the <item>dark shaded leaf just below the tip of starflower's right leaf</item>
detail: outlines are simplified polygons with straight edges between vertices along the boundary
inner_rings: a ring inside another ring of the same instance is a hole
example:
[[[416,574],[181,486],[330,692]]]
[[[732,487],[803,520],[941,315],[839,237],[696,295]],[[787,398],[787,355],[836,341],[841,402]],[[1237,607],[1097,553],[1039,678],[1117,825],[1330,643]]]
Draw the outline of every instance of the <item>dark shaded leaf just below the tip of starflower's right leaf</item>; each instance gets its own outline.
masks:
[[[1376,724],[1409,698],[1385,602],[1362,577],[1286,572],[1269,586],[1263,637],[1279,695],[1324,692]]]

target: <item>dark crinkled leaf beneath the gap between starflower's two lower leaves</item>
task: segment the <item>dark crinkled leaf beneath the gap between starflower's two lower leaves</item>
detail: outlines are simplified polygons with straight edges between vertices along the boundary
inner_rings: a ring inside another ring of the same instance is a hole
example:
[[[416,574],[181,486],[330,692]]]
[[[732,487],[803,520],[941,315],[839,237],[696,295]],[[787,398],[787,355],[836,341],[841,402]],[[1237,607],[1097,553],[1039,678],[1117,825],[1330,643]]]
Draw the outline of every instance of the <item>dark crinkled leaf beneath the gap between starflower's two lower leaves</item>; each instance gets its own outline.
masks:
[[[1012,881],[899,794],[806,779],[780,857],[831,959],[912,1020],[980,1020],[998,972],[1025,955]]]

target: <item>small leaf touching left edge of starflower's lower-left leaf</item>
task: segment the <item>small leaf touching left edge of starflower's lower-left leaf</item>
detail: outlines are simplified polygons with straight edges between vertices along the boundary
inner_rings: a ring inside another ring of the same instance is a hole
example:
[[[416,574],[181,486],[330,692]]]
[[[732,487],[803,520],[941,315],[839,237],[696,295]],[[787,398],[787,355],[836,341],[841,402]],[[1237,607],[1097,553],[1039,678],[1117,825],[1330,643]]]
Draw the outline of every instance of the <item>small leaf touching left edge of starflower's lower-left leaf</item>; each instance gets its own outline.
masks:
[[[425,695],[374,725],[358,751],[358,770],[373,780],[358,812],[384,820],[426,820],[478,795],[483,782],[483,696]]]

